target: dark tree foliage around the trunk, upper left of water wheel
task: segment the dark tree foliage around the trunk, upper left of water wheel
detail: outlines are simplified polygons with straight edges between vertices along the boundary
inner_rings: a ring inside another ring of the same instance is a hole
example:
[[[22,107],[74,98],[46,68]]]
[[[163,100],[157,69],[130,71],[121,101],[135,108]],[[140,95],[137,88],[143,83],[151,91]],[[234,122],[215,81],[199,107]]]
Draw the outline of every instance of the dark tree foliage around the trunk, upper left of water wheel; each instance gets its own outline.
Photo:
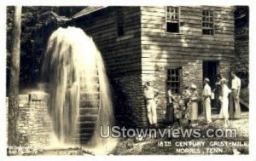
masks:
[[[44,49],[51,32],[65,24],[84,7],[23,7],[20,42],[20,88],[34,87],[40,79]],[[7,87],[9,87],[9,59],[14,7],[7,7]],[[59,16],[59,14],[64,16]],[[7,94],[9,89],[7,89]]]

